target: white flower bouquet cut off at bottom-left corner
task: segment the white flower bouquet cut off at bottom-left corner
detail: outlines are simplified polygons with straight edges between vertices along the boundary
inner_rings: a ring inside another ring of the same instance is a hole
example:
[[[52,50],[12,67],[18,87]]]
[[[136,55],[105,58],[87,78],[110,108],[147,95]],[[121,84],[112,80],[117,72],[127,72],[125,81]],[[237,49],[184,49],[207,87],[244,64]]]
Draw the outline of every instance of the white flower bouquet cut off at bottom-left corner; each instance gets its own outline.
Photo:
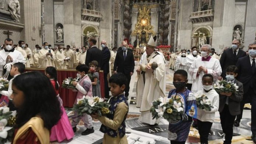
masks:
[[[9,108],[4,106],[0,107],[0,143],[4,144],[8,141],[12,141],[15,125],[16,111],[9,111]]]

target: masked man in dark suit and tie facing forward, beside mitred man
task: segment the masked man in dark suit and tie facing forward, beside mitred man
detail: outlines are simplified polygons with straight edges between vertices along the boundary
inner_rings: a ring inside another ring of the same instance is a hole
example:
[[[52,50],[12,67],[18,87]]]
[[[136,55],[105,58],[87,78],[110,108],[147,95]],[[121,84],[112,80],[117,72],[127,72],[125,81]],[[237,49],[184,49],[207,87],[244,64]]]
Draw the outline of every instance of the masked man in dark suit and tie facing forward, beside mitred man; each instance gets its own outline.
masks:
[[[128,100],[129,96],[129,84],[131,81],[131,76],[134,73],[134,55],[131,51],[127,50],[128,44],[126,42],[122,43],[122,50],[117,51],[114,62],[114,73],[121,72],[123,73],[128,80],[128,83],[125,87],[125,97]]]

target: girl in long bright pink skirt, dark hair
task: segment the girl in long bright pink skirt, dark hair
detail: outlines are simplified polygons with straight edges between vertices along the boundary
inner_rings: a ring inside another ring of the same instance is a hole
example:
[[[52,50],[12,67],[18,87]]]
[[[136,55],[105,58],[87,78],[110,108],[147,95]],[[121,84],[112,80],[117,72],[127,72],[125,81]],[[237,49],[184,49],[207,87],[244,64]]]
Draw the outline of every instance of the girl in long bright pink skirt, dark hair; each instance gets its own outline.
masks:
[[[59,143],[64,140],[70,140],[74,137],[74,132],[70,121],[68,120],[68,115],[65,112],[63,107],[63,102],[59,96],[59,84],[57,82],[57,70],[53,66],[48,66],[45,69],[45,75],[50,79],[51,84],[55,88],[56,96],[60,102],[60,109],[62,111],[62,115],[58,123],[51,128],[51,136],[50,141],[58,141]]]

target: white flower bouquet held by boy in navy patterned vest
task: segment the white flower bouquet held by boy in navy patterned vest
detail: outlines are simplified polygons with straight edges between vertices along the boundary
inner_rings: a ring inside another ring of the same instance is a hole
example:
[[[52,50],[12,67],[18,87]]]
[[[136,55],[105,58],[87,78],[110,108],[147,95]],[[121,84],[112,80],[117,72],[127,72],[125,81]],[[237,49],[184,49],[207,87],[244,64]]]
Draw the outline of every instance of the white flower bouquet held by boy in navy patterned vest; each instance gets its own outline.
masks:
[[[83,96],[83,98],[77,99],[77,104],[74,104],[73,111],[76,111],[78,115],[97,113],[100,116],[104,116],[110,113],[109,106],[109,103],[104,102],[103,98]]]

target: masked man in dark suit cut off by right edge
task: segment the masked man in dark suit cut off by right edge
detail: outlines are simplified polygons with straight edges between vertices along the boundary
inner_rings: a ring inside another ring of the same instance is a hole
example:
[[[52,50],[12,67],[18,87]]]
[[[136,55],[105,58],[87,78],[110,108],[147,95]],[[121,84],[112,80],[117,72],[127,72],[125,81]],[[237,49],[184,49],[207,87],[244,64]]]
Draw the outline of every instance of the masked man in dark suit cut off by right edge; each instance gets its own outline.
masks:
[[[249,55],[239,58],[237,61],[238,80],[243,83],[243,100],[241,102],[241,114],[237,115],[235,126],[239,126],[242,119],[243,107],[250,102],[251,108],[251,130],[252,138],[256,143],[256,42],[249,44]]]

